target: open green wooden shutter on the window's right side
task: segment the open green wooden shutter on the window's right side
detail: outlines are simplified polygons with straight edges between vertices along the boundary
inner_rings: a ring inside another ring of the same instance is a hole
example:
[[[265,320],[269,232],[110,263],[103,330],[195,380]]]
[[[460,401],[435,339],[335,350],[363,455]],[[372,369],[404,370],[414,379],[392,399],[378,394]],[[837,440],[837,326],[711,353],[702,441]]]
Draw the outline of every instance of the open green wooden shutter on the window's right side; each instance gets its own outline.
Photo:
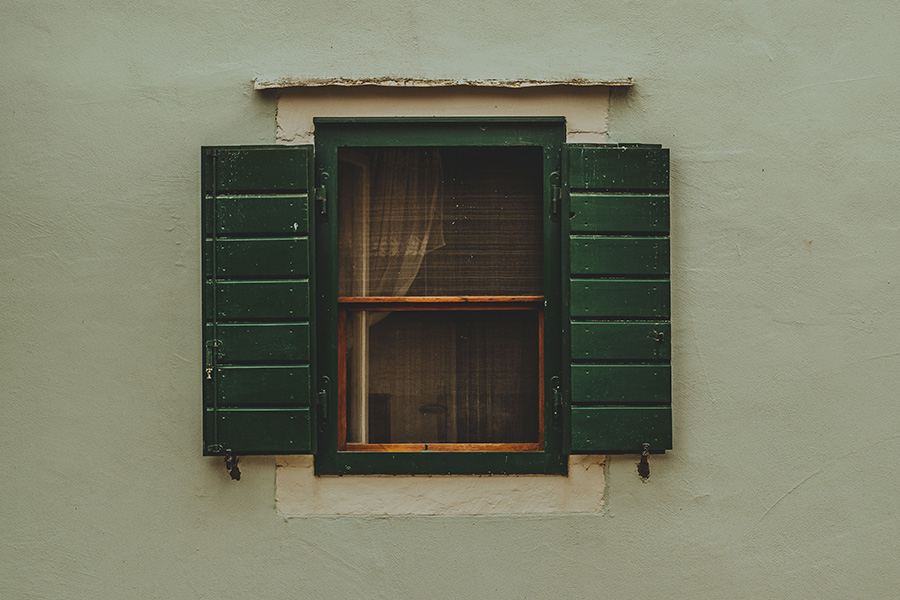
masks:
[[[670,449],[669,151],[569,145],[566,153],[567,449]]]

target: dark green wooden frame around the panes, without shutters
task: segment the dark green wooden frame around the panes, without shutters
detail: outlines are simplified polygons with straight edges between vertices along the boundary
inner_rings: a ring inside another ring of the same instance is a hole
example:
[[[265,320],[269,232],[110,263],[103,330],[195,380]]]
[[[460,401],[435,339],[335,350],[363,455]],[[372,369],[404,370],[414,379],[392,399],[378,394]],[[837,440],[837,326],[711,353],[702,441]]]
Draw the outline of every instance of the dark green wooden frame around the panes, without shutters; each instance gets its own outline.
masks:
[[[319,204],[316,235],[319,311],[317,348],[320,390],[330,400],[319,424],[317,474],[491,474],[565,473],[562,419],[558,386],[561,375],[561,272],[559,173],[565,143],[565,120],[542,119],[340,119],[318,118],[315,123],[315,171]],[[338,150],[342,147],[534,147],[542,157],[544,373],[543,449],[534,451],[341,451],[338,446]],[[555,194],[555,197],[554,197]],[[554,199],[555,198],[555,199]],[[555,415],[555,416],[554,416]]]

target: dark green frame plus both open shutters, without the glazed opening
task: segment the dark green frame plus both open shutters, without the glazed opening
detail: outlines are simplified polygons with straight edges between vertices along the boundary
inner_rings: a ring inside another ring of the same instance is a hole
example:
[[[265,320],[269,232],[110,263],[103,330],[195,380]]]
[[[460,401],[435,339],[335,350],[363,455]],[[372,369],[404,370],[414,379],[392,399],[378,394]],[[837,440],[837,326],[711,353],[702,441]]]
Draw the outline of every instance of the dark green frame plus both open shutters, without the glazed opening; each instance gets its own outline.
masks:
[[[203,451],[316,474],[565,474],[672,447],[668,151],[565,143],[562,117],[317,118],[314,146],[207,147]],[[339,451],[337,153],[530,146],[543,192],[543,447]]]

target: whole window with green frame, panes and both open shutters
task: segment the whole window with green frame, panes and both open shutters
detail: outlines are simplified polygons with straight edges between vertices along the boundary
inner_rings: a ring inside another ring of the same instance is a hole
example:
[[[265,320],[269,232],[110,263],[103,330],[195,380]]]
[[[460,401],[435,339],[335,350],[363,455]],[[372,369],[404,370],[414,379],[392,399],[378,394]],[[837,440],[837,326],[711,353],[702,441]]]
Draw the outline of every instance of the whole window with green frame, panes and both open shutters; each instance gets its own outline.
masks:
[[[565,473],[671,447],[665,151],[566,146],[561,118],[315,136],[205,150],[206,453]]]

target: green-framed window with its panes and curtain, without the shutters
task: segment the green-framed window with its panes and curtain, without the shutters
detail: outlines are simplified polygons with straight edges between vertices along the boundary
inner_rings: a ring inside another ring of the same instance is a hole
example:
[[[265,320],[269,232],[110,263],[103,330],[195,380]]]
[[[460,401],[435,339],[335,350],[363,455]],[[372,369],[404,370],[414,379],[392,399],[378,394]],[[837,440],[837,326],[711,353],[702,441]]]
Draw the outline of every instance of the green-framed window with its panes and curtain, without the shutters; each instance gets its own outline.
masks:
[[[335,398],[316,472],[564,472],[559,296],[544,293],[563,120],[315,123],[337,204],[316,230]]]

